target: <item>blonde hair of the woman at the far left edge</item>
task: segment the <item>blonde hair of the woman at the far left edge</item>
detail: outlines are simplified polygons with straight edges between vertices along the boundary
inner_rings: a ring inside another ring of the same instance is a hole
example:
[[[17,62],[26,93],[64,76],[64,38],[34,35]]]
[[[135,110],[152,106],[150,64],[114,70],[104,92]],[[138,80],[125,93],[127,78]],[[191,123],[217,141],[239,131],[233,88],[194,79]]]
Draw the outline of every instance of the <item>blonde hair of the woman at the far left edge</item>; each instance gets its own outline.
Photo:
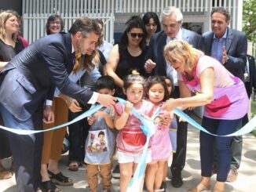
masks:
[[[6,36],[6,31],[5,31],[6,20],[8,20],[11,16],[16,16],[17,20],[20,19],[19,14],[13,10],[5,10],[0,13],[0,38],[2,39],[5,39],[5,36]],[[12,39],[14,42],[16,42],[16,36],[18,33],[19,31],[12,34]]]

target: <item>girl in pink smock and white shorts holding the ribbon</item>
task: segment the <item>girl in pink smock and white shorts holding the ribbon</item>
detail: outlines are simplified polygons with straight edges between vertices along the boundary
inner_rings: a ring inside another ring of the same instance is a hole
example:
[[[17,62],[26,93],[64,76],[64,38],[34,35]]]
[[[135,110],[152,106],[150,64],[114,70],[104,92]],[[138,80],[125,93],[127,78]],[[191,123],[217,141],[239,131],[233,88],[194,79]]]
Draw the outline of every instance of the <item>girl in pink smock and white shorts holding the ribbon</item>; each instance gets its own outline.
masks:
[[[153,107],[152,103],[142,100],[144,95],[144,78],[130,74],[124,80],[123,92],[126,94],[126,104],[116,103],[114,125],[120,130],[116,137],[117,157],[120,166],[120,191],[126,192],[128,184],[146,143],[146,136],[142,132],[141,121],[131,114],[134,107],[140,114],[148,115]],[[146,163],[151,161],[151,151],[148,150]]]

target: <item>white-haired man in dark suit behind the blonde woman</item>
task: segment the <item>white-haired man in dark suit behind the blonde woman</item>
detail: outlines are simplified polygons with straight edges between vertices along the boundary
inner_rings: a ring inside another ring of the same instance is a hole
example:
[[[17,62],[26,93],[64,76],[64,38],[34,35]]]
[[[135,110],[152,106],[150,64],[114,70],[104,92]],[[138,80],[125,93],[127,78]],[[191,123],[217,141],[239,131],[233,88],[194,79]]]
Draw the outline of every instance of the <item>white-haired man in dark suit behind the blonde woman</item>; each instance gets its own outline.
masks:
[[[188,31],[181,27],[183,15],[176,7],[166,7],[161,13],[163,31],[152,35],[150,39],[148,53],[146,55],[145,70],[148,73],[157,75],[167,75],[175,85],[173,97],[180,97],[177,86],[177,72],[166,64],[163,56],[163,49],[167,42],[173,39],[182,39],[196,49],[202,49],[202,37],[193,31]],[[181,171],[185,166],[187,149],[188,123],[179,122],[177,128],[177,150],[170,167],[172,172],[171,183],[174,187],[181,187],[183,184]]]

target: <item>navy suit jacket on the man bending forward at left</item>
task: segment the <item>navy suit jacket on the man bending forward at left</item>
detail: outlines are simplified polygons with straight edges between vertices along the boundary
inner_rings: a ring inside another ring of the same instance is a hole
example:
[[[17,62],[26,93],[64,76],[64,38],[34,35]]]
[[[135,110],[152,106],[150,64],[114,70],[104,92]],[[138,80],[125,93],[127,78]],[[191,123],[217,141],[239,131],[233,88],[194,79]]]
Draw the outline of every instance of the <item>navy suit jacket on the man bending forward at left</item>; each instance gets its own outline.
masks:
[[[52,34],[38,39],[16,55],[0,74],[0,103],[16,118],[26,121],[53,99],[55,85],[67,96],[90,100],[93,92],[68,78],[74,65],[71,34]]]

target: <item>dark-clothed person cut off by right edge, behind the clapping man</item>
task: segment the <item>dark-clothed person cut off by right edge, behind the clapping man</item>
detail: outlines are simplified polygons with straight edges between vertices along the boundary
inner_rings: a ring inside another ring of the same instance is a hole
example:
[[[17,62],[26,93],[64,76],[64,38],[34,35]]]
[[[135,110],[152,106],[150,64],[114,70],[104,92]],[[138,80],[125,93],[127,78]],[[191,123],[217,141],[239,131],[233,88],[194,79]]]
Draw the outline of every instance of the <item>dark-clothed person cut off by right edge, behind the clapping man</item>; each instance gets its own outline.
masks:
[[[247,54],[247,65],[244,68],[244,85],[247,89],[247,96],[250,99],[252,89],[254,88],[254,94],[256,89],[256,67],[255,59],[253,56]],[[242,126],[248,122],[248,115],[246,114],[242,120]]]

